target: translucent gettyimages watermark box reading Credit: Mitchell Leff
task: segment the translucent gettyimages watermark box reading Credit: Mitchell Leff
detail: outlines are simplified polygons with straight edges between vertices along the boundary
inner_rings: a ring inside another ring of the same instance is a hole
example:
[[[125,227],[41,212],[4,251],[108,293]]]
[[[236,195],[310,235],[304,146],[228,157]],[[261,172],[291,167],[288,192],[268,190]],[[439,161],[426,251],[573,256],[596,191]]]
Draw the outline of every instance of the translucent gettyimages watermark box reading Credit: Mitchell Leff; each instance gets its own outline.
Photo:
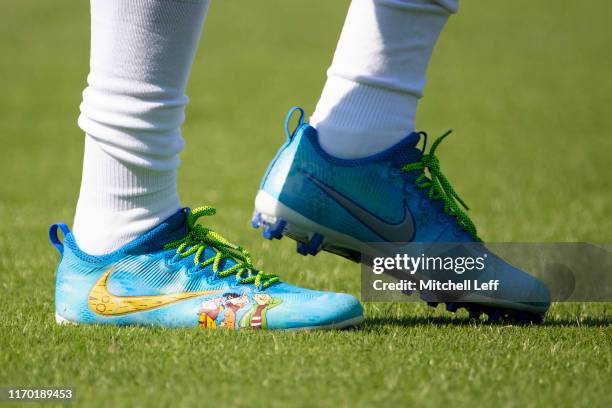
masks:
[[[362,264],[365,301],[612,301],[612,244],[374,243]]]

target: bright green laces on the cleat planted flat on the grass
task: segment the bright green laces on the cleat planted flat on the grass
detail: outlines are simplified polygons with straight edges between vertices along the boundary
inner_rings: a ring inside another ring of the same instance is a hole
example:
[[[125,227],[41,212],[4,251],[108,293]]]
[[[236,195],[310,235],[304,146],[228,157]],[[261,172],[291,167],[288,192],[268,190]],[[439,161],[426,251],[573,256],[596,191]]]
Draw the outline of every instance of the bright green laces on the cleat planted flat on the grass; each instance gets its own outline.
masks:
[[[236,280],[243,284],[254,284],[259,289],[279,282],[280,278],[276,275],[266,274],[258,271],[251,260],[251,255],[243,247],[233,244],[225,239],[221,234],[196,224],[198,218],[202,216],[215,215],[217,211],[213,207],[198,207],[191,211],[187,218],[188,233],[185,237],[170,242],[164,246],[165,249],[176,248],[176,253],[181,258],[185,258],[195,253],[193,262],[200,268],[212,264],[213,272],[225,278],[236,275]],[[200,260],[204,250],[208,247],[215,249],[215,256],[206,260]],[[224,259],[233,259],[236,264],[219,272],[219,263]],[[245,275],[243,277],[243,275]]]

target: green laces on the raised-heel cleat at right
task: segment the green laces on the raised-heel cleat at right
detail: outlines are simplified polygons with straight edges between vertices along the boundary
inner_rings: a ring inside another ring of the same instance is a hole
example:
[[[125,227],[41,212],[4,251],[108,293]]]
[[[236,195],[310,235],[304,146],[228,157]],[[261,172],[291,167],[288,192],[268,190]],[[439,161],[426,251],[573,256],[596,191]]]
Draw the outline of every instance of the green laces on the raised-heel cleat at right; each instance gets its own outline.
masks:
[[[416,186],[418,188],[429,187],[429,198],[432,200],[442,200],[444,202],[444,212],[448,215],[454,216],[461,228],[469,232],[477,241],[481,241],[480,237],[478,236],[478,232],[476,231],[476,226],[465,211],[459,207],[457,202],[459,202],[466,210],[469,210],[469,207],[467,204],[465,204],[461,197],[457,195],[453,187],[450,185],[448,179],[440,171],[440,160],[438,160],[435,155],[436,149],[442,140],[450,135],[451,132],[452,130],[449,130],[436,139],[429,149],[429,153],[423,154],[423,157],[421,157],[421,160],[418,162],[406,164],[402,167],[402,171],[408,172],[413,170],[422,170],[422,173],[415,180]],[[423,147],[423,151],[424,150],[425,147]],[[429,172],[431,178],[427,177],[425,170]]]

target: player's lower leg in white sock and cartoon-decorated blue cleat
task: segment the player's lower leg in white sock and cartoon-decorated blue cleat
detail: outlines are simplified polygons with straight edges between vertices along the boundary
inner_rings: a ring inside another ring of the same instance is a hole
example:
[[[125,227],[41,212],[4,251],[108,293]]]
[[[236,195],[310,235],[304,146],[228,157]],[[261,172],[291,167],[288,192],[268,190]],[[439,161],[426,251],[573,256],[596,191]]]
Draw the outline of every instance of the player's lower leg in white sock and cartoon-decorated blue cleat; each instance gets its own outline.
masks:
[[[231,329],[250,329],[257,316],[267,329],[361,322],[354,296],[281,283],[256,269],[242,247],[198,223],[213,208],[180,208],[179,127],[207,1],[91,5],[91,74],[79,120],[87,141],[78,242],[65,224],[49,229],[62,254],[57,321]],[[267,296],[273,312],[259,310],[257,296]],[[220,305],[231,311],[219,314]]]

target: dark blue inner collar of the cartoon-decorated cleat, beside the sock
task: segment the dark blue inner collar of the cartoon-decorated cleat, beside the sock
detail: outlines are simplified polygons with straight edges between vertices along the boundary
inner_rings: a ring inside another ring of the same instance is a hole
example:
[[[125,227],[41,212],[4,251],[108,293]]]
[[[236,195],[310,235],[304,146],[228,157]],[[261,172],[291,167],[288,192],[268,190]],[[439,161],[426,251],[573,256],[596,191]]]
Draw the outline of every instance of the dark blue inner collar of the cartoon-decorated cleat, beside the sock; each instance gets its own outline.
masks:
[[[147,253],[158,251],[169,242],[176,241],[187,235],[188,208],[182,208],[157,227],[149,230],[132,244],[128,244],[129,252]]]

